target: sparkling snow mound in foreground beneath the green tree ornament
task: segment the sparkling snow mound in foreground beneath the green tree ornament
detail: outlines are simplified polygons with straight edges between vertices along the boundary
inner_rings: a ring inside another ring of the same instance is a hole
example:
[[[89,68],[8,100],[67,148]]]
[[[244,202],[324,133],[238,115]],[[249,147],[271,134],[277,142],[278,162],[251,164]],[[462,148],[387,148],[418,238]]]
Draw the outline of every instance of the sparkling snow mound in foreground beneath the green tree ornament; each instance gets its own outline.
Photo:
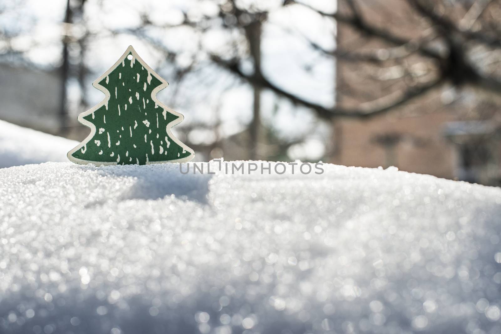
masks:
[[[501,332],[501,189],[324,169],[0,169],[0,332]]]

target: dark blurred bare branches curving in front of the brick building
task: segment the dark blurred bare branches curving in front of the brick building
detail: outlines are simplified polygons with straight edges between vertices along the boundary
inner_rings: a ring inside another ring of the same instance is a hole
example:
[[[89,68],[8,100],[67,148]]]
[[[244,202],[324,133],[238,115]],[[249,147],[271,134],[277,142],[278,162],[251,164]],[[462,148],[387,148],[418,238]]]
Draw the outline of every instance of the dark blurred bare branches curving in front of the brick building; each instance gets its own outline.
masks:
[[[491,3],[498,1],[475,1],[468,8],[468,15],[462,18],[447,17],[445,15],[437,15],[436,8],[439,7],[442,1],[419,1],[419,0],[402,0],[408,1],[414,9],[411,15],[420,16],[418,20],[429,20],[432,26],[417,31],[418,37],[407,37],[399,33],[398,26],[392,24],[391,27],[385,27],[375,23],[373,20],[366,17],[363,13],[362,5],[359,2],[362,0],[340,0],[346,3],[349,10],[338,10],[337,12],[325,12],[316,9],[312,5],[295,1],[286,0],[284,6],[301,5],[309,10],[313,10],[324,17],[329,17],[338,24],[347,24],[354,30],[358,31],[364,38],[377,39],[382,43],[387,44],[387,47],[366,48],[355,45],[353,49],[344,48],[338,45],[333,50],[324,49],[321,45],[313,40],[305,38],[309,45],[323,53],[325,56],[334,57],[338,60],[348,61],[352,63],[369,63],[372,66],[381,69],[387,68],[389,62],[406,62],[405,71],[410,76],[415,76],[415,73],[409,68],[409,63],[415,63],[415,60],[409,60],[409,57],[420,57],[420,62],[427,63],[430,67],[426,76],[427,80],[414,80],[411,84],[405,82],[399,90],[392,91],[385,95],[376,96],[372,101],[364,101],[357,106],[344,106],[337,104],[335,107],[328,108],[322,104],[306,100],[300,96],[288,91],[274,82],[270,81],[262,72],[260,66],[255,66],[254,73],[248,73],[242,70],[241,62],[245,57],[250,57],[254,63],[257,63],[256,52],[252,52],[255,46],[252,45],[252,29],[257,24],[262,24],[267,19],[267,12],[256,9],[240,8],[235,1],[223,3],[219,6],[219,17],[223,18],[221,26],[226,29],[239,30],[245,37],[248,46],[248,53],[241,55],[238,52],[231,54],[214,54],[209,53],[210,59],[219,65],[221,68],[234,73],[245,82],[252,86],[257,86],[265,89],[270,89],[278,95],[285,97],[293,103],[300,104],[311,108],[322,118],[333,118],[338,116],[343,117],[370,117],[390,111],[399,107],[414,98],[417,98],[431,89],[438,88],[443,83],[450,83],[457,86],[464,84],[475,85],[478,88],[497,91],[501,87],[501,80],[495,76],[485,74],[481,69],[476,68],[470,61],[470,51],[475,45],[469,45],[468,42],[482,43],[489,47],[501,47],[501,39],[497,37],[498,30],[471,30],[464,28],[466,23],[469,26],[483,20],[483,15],[488,13],[488,6]],[[458,1],[459,2],[459,1]],[[481,2],[481,3],[480,3]],[[372,12],[372,15],[384,15],[384,13]],[[212,19],[206,17],[204,19]],[[473,22],[474,21],[474,22]],[[150,22],[145,21],[145,25]],[[196,29],[210,29],[209,24],[203,20],[195,22],[189,19],[187,15],[181,25],[188,25]],[[140,29],[130,31],[140,35]],[[154,43],[159,47],[159,43]],[[175,54],[166,51],[168,57],[175,57]],[[407,76],[402,79],[406,81]],[[398,86],[398,85],[397,85]]]

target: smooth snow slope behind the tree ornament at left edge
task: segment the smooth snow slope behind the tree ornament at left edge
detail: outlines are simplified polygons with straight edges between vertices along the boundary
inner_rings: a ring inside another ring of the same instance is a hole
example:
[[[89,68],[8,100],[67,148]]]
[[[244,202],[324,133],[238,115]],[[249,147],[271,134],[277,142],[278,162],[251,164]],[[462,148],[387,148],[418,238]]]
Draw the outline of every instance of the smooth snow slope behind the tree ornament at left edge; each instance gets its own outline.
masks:
[[[78,144],[70,140],[0,120],[0,168],[68,161],[66,153]]]

